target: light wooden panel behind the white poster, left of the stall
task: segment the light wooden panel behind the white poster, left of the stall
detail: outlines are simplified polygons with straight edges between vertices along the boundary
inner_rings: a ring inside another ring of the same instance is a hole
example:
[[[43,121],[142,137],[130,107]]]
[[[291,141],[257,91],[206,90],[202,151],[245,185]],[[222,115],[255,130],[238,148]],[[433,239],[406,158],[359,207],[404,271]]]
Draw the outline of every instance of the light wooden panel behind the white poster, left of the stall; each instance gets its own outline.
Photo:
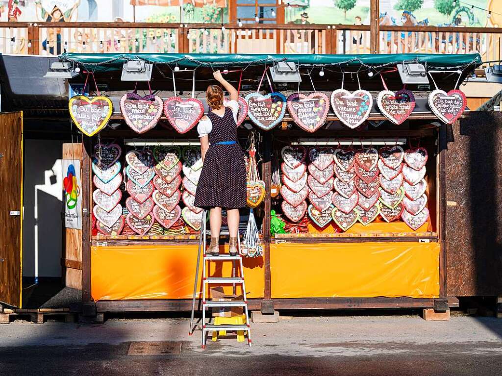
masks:
[[[63,144],[63,159],[79,160],[82,165],[82,144]],[[61,265],[65,285],[82,290],[82,230],[66,228],[64,243],[65,257],[61,260]]]

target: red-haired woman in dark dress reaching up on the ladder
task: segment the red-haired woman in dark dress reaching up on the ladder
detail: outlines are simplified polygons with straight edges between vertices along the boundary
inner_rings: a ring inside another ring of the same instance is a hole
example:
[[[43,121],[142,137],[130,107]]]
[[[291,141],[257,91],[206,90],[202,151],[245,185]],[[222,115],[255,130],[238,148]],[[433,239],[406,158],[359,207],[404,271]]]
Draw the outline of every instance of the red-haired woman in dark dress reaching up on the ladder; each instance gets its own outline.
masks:
[[[211,244],[206,250],[218,256],[221,209],[226,209],[230,233],[229,251],[237,254],[239,208],[246,206],[246,172],[244,155],[237,143],[237,90],[228,83],[220,71],[213,73],[230,100],[223,105],[223,90],[219,85],[209,85],[206,90],[210,112],[197,126],[204,166],[200,175],[194,205],[209,210]],[[204,219],[203,219],[204,220]]]

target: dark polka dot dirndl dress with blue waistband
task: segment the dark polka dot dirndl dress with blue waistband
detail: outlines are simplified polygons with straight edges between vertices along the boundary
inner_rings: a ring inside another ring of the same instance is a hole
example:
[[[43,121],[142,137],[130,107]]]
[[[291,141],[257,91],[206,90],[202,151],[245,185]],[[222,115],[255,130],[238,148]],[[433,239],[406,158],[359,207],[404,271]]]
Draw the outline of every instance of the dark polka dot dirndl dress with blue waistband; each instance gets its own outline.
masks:
[[[204,158],[194,205],[204,209],[243,208],[246,206],[246,172],[232,109],[225,107],[223,116],[209,112],[207,117],[212,122],[208,134],[210,146]],[[217,145],[226,141],[235,141],[235,144]]]

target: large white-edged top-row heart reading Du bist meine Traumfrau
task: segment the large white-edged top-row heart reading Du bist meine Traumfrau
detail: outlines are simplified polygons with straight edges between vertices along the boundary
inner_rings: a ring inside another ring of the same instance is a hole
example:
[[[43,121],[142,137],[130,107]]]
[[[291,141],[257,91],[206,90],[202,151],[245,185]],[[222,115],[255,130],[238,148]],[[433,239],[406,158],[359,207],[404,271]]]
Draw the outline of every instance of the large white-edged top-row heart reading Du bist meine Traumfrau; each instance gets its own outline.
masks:
[[[345,89],[336,89],[331,93],[331,107],[341,122],[355,129],[368,118],[373,108],[373,97],[366,90],[350,93]]]

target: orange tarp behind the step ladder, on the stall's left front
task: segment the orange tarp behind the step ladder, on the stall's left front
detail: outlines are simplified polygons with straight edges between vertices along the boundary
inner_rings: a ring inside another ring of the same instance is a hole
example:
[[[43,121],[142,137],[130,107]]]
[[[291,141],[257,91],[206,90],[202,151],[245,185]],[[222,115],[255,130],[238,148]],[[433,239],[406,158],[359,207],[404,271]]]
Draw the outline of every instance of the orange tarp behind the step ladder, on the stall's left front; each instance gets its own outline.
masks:
[[[93,246],[92,298],[95,301],[191,299],[197,248],[197,245]],[[243,264],[247,297],[263,298],[263,258],[244,259]],[[223,270],[216,269],[216,265],[223,265]],[[208,275],[230,277],[231,262],[211,263]],[[231,285],[225,288],[225,293],[231,291]]]

